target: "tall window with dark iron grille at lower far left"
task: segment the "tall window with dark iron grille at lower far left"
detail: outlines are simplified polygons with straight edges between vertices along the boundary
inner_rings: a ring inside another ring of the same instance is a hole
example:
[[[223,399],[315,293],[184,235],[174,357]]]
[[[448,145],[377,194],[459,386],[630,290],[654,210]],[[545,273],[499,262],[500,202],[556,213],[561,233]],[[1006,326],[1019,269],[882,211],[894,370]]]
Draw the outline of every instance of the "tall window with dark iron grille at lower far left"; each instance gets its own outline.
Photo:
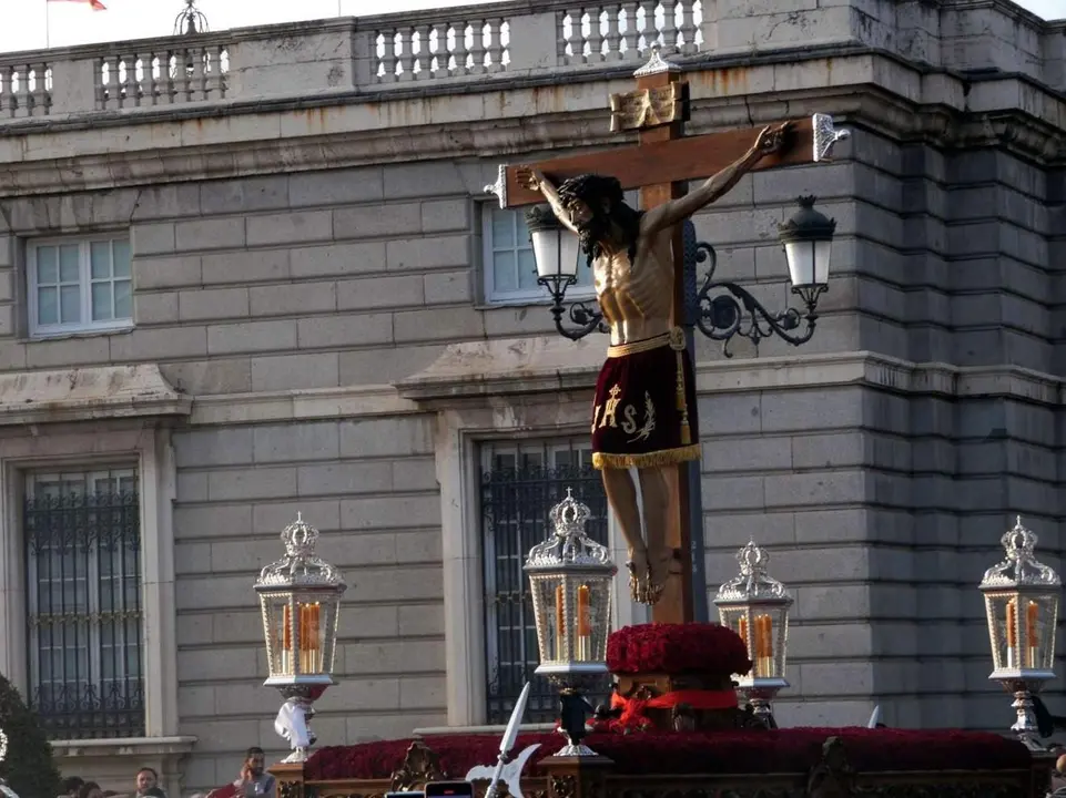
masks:
[[[29,697],[53,739],[144,736],[135,469],[28,473]]]

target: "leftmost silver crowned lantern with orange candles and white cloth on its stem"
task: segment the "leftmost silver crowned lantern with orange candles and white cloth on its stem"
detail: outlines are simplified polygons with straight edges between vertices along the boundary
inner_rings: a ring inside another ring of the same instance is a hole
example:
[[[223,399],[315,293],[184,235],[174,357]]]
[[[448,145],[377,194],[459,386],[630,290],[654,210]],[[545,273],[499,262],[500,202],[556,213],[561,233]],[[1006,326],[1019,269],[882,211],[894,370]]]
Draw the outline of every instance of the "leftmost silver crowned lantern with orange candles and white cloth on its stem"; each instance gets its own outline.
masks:
[[[274,729],[293,753],[283,761],[306,761],[315,743],[309,722],[314,703],[333,679],[341,596],[347,590],[341,572],[315,555],[318,530],[297,513],[282,532],[285,556],[266,565],[255,582],[263,611],[270,677],[285,703]]]

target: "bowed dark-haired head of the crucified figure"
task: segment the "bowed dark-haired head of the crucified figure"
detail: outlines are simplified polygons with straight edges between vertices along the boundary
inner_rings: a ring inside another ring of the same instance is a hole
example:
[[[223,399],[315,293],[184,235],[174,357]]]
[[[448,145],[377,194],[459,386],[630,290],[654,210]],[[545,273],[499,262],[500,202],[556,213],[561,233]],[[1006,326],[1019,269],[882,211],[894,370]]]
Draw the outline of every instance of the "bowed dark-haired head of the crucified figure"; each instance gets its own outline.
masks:
[[[627,246],[630,259],[634,257],[640,213],[626,204],[622,184],[616,177],[595,174],[571,177],[562,182],[558,194],[590,264],[607,244]]]

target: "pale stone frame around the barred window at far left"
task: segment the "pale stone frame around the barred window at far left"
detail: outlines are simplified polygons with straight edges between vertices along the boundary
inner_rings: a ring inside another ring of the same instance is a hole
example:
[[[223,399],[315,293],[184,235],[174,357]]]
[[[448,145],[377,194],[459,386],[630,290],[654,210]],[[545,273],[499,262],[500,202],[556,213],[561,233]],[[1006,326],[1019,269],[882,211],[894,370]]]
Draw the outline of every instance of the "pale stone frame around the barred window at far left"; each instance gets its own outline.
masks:
[[[85,468],[101,461],[136,463],[141,502],[141,583],[144,682],[143,738],[53,740],[61,756],[156,754],[161,744],[175,754],[192,747],[193,738],[179,737],[177,640],[174,614],[173,501],[177,471],[170,430],[150,422],[130,420],[110,426],[29,427],[30,434],[0,439],[0,575],[3,603],[0,607],[0,669],[24,693],[28,685],[26,657],[26,570],[21,540],[22,482],[28,471],[53,468]],[[112,750],[113,749],[113,750]],[[121,750],[120,750],[121,749]]]

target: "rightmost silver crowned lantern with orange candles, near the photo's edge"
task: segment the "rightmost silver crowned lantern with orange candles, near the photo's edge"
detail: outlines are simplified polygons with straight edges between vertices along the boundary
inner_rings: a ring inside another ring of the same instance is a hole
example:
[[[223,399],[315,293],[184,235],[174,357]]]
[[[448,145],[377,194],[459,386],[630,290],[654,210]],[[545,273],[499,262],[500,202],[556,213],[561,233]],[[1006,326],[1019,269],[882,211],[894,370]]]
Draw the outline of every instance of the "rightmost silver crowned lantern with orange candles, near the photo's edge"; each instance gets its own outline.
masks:
[[[1021,516],[1001,539],[1006,559],[985,571],[978,590],[985,595],[993,672],[988,676],[1014,694],[1017,719],[1011,727],[1033,750],[1043,750],[1033,696],[1055,678],[1055,628],[1063,583],[1033,554],[1037,538]]]

